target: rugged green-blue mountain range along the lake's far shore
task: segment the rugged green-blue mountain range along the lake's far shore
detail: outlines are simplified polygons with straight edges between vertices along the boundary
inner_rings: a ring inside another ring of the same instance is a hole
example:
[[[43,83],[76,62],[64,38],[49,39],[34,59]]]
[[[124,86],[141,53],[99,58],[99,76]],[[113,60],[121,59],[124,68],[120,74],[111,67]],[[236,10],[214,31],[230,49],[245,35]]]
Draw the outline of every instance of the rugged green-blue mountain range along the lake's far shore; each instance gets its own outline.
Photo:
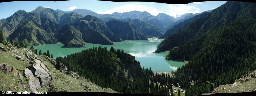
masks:
[[[109,45],[115,41],[147,40],[147,37],[157,36],[165,38],[170,33],[163,35],[166,28],[195,15],[184,14],[176,18],[179,19],[177,21],[167,14],[153,16],[147,11],[98,14],[86,9],[54,11],[39,6],[31,12],[20,10],[1,19],[0,28],[7,40],[20,42],[27,39],[33,45],[62,42],[65,44],[63,47],[83,47],[85,42]],[[100,41],[93,36],[99,36]]]

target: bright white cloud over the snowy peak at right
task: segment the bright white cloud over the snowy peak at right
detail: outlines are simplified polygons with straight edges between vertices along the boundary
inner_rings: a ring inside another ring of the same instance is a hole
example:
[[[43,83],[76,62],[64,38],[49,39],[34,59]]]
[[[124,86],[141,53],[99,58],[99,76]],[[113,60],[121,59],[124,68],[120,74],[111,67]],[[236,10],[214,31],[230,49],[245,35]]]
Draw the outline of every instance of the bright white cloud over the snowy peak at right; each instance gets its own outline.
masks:
[[[168,15],[173,16],[174,18],[185,13],[195,14],[195,13],[199,13],[200,11],[200,8],[197,8],[195,6],[186,6],[184,4],[174,4],[174,5],[169,5],[168,7],[170,8]]]

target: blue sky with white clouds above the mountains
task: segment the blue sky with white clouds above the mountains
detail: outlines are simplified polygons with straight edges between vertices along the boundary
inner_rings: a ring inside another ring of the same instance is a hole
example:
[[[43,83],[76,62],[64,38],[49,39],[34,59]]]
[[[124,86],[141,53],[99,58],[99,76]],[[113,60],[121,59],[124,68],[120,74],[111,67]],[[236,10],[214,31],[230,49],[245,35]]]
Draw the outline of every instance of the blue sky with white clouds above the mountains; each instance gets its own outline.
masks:
[[[147,11],[156,16],[159,13],[177,17],[185,13],[201,13],[212,10],[225,4],[227,1],[194,2],[188,4],[165,4],[154,2],[110,2],[94,0],[71,1],[13,1],[0,3],[0,19],[8,18],[18,10],[31,12],[38,6],[53,10],[72,11],[87,9],[99,14],[112,14],[114,12]]]

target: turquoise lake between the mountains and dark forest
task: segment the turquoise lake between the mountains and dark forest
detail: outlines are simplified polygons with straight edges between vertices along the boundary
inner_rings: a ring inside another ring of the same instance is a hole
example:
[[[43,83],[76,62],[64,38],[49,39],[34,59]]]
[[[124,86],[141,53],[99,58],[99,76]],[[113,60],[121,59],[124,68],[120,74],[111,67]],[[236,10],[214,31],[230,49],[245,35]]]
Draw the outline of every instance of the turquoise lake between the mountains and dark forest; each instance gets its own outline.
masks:
[[[141,67],[144,68],[151,67],[153,71],[172,71],[177,70],[178,67],[184,65],[184,62],[174,62],[174,61],[167,61],[164,60],[167,53],[153,53],[156,50],[157,45],[161,41],[122,41],[122,42],[114,42],[115,45],[100,45],[100,44],[92,44],[87,43],[86,48],[61,48],[64,44],[57,43],[57,44],[48,44],[48,45],[38,45],[33,46],[34,49],[42,51],[42,53],[46,52],[47,49],[50,51],[50,55],[53,55],[53,58],[57,56],[66,56],[73,53],[77,53],[79,51],[85,50],[87,48],[93,47],[113,47],[115,49],[124,49],[124,52],[135,56],[135,60],[140,62]],[[30,48],[30,47],[28,47]]]

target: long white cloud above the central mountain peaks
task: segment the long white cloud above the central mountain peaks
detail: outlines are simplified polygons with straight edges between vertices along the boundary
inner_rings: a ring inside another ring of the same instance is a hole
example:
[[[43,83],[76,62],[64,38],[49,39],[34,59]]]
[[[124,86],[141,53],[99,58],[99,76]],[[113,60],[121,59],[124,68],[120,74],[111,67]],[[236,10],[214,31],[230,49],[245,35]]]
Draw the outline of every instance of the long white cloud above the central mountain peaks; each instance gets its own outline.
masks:
[[[114,7],[108,11],[102,12],[99,11],[97,12],[98,14],[112,14],[114,12],[129,12],[129,11],[147,11],[148,13],[156,16],[160,13],[159,10],[157,10],[155,7],[147,7],[147,6],[143,6],[143,5],[136,5],[136,4],[125,4],[122,6],[117,6]]]

